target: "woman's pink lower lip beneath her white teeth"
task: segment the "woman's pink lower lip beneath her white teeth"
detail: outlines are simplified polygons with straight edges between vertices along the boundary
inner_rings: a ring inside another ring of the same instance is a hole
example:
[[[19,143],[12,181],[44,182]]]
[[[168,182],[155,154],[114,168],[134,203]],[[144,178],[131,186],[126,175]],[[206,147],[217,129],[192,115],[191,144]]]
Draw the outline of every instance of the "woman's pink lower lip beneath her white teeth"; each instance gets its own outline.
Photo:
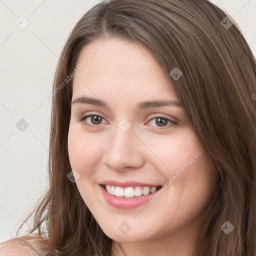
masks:
[[[136,208],[143,203],[146,203],[149,201],[149,197],[153,196],[155,193],[158,192],[156,190],[153,193],[147,194],[147,195],[140,195],[140,196],[134,196],[131,198],[123,198],[118,197],[112,194],[109,194],[103,185],[99,185],[100,189],[102,190],[104,199],[113,207],[119,208],[119,209],[132,209]]]

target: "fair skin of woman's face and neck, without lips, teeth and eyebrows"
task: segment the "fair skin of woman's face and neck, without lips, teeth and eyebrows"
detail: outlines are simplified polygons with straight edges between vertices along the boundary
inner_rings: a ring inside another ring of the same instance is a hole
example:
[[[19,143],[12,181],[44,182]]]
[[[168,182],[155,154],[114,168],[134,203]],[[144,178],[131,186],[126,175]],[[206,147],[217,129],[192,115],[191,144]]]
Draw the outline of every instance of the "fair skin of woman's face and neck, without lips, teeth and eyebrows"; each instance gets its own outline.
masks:
[[[68,153],[72,169],[80,175],[77,188],[103,232],[113,239],[115,255],[121,255],[118,246],[127,256],[193,255],[216,187],[216,172],[182,107],[136,109],[140,101],[178,101],[172,78],[151,52],[141,44],[119,38],[104,41],[83,47],[77,63],[94,48],[99,52],[73,79],[72,101],[90,96],[108,106],[71,105]],[[78,121],[89,114],[103,118],[95,121],[90,116]],[[159,116],[177,123],[163,119],[161,125],[156,118]],[[123,118],[131,124],[127,131],[118,127]],[[124,210],[104,200],[99,189],[102,180],[164,185],[197,151],[200,156],[179,171],[181,175],[154,202]],[[125,234],[118,228],[123,221],[131,227]]]

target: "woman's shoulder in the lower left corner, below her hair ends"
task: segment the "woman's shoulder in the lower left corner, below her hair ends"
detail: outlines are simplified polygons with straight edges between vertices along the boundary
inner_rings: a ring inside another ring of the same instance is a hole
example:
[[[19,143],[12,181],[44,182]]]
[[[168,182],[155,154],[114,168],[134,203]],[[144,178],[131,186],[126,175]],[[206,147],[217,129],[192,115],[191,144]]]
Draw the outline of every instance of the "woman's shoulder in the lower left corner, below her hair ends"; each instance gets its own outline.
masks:
[[[39,256],[29,244],[30,236],[21,236],[0,243],[0,256]]]

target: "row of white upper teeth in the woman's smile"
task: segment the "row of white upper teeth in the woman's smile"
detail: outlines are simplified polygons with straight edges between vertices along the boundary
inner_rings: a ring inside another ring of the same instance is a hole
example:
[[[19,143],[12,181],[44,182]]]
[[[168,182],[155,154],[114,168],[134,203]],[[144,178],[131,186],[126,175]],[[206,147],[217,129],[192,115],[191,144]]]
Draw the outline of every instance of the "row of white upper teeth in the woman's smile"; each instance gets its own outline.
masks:
[[[153,193],[156,191],[156,186],[136,186],[135,189],[131,186],[129,187],[120,187],[120,186],[112,186],[112,185],[105,185],[106,191],[109,194],[119,196],[119,197],[133,197],[133,196],[140,196],[140,195],[147,195],[149,193]]]

